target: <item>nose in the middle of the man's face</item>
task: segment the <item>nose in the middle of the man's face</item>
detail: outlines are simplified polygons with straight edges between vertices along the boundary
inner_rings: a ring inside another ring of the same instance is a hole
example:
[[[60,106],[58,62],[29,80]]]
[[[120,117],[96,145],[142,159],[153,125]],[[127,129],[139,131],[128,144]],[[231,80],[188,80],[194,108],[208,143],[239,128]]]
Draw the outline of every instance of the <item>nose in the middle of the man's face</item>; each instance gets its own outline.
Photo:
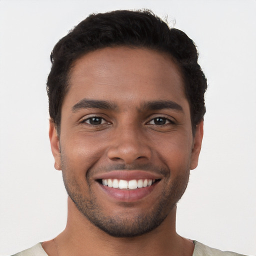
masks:
[[[151,149],[143,131],[128,125],[114,131],[107,156],[110,160],[121,160],[125,164],[132,164],[135,161],[149,160]]]

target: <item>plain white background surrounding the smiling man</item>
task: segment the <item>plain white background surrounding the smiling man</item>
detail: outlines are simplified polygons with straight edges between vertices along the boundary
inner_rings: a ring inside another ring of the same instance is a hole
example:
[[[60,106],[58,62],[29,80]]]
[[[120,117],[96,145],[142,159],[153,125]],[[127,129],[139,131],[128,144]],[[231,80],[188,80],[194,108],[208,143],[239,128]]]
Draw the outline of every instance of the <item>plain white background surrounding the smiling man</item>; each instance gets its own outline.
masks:
[[[0,0],[0,255],[53,238],[66,192],[53,168],[49,54],[92,12],[151,8],[185,31],[208,78],[199,166],[178,203],[177,232],[256,254],[255,0]]]

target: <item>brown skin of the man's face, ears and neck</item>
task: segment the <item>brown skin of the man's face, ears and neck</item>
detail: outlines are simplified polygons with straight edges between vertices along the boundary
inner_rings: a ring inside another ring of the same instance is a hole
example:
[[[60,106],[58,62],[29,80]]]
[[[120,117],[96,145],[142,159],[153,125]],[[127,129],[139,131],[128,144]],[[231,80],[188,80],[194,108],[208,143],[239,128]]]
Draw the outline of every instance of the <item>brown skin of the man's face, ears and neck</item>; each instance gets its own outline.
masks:
[[[108,108],[88,105],[106,99]],[[197,166],[203,123],[193,136],[182,76],[169,55],[107,47],[77,59],[60,125],[57,134],[50,121],[49,137],[68,217],[64,231],[42,243],[50,256],[192,255],[192,241],[176,233],[175,204]],[[134,191],[112,196],[98,182],[141,172],[157,179],[141,198]]]

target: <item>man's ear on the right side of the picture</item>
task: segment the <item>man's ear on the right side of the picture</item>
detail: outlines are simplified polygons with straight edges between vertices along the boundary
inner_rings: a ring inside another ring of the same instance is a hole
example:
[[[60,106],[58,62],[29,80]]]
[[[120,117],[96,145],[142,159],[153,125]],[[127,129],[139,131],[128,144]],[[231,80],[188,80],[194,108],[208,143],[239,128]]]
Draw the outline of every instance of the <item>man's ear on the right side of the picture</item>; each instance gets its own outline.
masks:
[[[202,136],[203,136],[203,121],[200,121],[195,127],[195,134],[193,138],[193,147],[190,158],[190,170],[196,168],[198,164],[198,157],[202,145]]]

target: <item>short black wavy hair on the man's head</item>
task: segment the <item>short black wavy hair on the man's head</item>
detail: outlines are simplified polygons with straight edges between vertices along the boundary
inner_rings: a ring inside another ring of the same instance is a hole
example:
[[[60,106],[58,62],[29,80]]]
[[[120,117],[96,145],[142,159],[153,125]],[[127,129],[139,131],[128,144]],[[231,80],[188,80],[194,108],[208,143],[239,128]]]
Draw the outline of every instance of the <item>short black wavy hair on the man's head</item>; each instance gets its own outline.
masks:
[[[54,46],[47,79],[49,115],[60,132],[61,106],[68,90],[70,67],[87,52],[113,46],[144,47],[170,54],[178,64],[190,106],[192,132],[205,113],[206,78],[197,63],[193,41],[150,10],[115,10],[91,14]]]

